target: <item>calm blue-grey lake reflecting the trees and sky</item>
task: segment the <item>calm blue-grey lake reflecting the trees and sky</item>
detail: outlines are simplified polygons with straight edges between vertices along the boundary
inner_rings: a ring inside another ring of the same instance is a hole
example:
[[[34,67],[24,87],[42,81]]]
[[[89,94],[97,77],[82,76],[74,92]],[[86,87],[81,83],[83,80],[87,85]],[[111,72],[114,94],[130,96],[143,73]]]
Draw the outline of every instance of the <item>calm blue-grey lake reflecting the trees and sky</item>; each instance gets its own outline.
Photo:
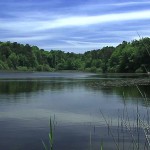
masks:
[[[149,82],[146,74],[1,72],[0,149],[43,150],[50,118],[54,150],[148,149]]]

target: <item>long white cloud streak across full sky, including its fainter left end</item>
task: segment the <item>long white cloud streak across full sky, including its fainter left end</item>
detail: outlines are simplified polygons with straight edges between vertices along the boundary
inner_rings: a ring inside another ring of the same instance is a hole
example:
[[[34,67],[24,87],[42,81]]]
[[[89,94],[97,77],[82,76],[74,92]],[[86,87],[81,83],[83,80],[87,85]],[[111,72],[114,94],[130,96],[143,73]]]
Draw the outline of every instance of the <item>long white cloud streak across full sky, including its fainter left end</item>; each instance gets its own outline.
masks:
[[[118,14],[106,14],[96,16],[70,16],[61,17],[59,19],[39,21],[35,18],[32,20],[19,19],[14,21],[2,20],[0,29],[15,30],[18,32],[42,31],[55,28],[88,26],[93,24],[104,24],[109,22],[122,22],[133,20],[148,20],[150,19],[150,10],[126,12]]]

